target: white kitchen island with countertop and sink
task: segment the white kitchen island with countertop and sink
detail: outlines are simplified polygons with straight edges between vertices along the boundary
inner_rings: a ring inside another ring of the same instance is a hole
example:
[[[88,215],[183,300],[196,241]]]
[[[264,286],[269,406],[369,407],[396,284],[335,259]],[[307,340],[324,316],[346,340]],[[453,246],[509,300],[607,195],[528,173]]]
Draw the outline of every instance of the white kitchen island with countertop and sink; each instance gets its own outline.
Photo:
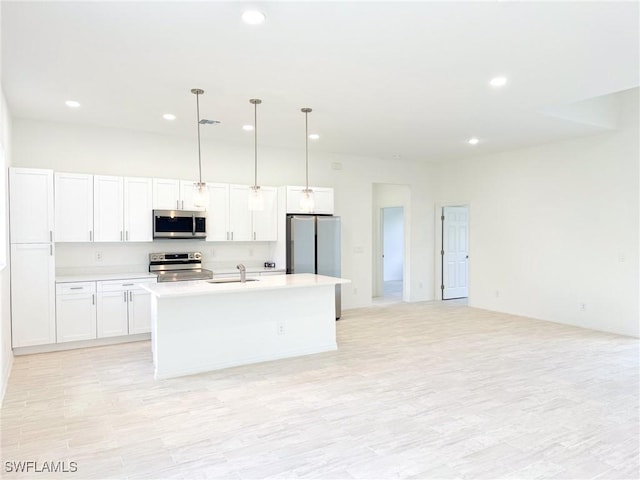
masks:
[[[309,273],[233,280],[143,286],[152,294],[156,379],[337,349],[335,286],[349,280]]]

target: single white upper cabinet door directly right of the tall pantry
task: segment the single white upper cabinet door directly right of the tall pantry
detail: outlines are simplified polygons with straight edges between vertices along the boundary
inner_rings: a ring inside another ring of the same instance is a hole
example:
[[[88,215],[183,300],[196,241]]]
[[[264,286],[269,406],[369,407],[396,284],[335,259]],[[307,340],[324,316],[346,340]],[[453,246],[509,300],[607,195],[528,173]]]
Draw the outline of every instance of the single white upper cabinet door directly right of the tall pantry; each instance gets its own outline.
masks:
[[[93,175],[55,174],[56,242],[93,241]]]

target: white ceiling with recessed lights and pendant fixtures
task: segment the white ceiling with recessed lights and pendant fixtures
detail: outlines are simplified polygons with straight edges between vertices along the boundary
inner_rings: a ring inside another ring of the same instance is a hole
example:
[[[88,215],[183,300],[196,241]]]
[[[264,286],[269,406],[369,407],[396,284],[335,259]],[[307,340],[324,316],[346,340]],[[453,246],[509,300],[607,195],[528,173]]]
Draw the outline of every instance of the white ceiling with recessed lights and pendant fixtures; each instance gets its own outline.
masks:
[[[601,132],[571,104],[639,84],[638,2],[254,2],[260,26],[250,6],[3,1],[12,115],[195,138],[198,87],[214,141],[252,144],[257,97],[259,146],[303,149],[308,106],[310,149],[441,161]]]

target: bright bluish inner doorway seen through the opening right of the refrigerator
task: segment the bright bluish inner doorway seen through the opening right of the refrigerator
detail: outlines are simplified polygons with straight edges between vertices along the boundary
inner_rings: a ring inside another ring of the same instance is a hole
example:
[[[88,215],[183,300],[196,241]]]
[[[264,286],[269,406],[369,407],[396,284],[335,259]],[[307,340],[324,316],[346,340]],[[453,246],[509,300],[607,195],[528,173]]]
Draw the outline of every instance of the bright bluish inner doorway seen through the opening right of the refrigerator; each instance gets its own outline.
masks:
[[[402,300],[404,288],[404,209],[380,209],[382,231],[382,296]]]

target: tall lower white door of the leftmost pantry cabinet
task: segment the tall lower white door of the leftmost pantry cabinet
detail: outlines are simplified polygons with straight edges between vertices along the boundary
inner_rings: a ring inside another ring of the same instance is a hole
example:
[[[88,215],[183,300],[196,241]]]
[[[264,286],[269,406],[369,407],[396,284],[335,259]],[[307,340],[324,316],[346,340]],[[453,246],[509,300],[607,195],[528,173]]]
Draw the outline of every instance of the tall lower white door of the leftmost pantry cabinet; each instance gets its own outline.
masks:
[[[11,245],[11,337],[14,348],[56,342],[51,243]]]

